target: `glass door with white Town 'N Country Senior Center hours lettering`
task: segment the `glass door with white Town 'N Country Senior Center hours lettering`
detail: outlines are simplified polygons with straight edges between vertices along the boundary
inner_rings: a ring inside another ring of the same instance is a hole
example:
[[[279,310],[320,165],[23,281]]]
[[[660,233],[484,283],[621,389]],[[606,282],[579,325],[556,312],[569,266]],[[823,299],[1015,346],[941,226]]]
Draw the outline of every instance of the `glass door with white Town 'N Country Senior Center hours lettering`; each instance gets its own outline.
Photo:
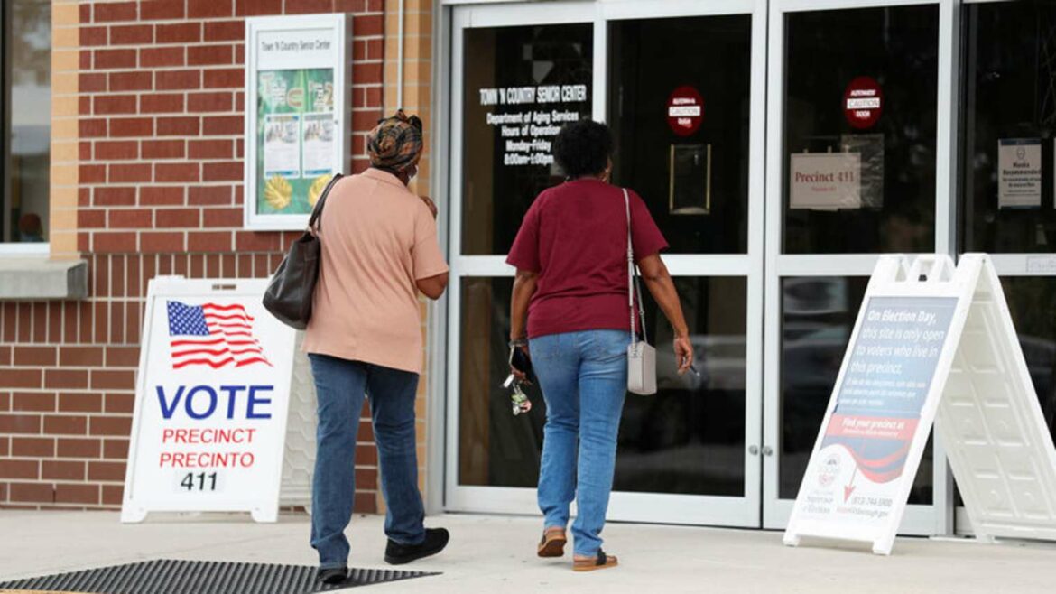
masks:
[[[560,120],[598,117],[595,15],[590,2],[454,8],[445,472],[450,511],[536,511],[546,411],[539,389],[530,387],[532,410],[514,416],[502,386],[509,373],[514,273],[505,260],[532,200],[561,183],[549,161]],[[562,89],[571,91],[562,97]]]

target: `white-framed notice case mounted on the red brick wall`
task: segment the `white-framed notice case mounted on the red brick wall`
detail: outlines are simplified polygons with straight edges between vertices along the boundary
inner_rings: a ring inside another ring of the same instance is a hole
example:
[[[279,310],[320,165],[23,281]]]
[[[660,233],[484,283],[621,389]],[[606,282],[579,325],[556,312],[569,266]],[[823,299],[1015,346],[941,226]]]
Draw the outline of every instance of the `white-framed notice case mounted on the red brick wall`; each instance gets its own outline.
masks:
[[[303,229],[347,167],[346,15],[246,20],[245,224]]]

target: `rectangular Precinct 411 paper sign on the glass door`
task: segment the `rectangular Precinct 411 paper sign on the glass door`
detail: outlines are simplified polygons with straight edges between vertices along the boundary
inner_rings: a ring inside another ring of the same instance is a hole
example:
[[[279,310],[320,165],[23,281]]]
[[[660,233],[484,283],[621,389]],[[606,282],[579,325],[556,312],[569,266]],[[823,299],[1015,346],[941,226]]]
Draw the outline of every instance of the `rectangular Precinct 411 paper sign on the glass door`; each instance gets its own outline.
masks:
[[[862,157],[856,152],[795,153],[789,167],[789,207],[862,207]]]

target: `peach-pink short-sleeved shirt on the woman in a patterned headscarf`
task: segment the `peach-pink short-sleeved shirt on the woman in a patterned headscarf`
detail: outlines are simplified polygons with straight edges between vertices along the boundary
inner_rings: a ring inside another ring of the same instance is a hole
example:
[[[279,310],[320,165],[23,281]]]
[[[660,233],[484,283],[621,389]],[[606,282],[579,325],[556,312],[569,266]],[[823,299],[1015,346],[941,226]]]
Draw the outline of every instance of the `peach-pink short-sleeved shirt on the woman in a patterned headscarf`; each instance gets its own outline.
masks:
[[[395,175],[369,169],[334,185],[303,350],[421,372],[416,280],[448,272],[426,204]]]

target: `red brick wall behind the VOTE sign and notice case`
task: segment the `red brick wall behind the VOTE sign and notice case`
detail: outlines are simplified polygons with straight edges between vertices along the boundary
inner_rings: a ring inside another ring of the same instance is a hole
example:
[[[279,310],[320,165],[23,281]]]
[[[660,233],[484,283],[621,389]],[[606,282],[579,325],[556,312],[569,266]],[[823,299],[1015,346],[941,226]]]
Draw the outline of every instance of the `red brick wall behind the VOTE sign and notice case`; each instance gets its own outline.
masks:
[[[119,505],[148,280],[267,276],[297,235],[241,228],[244,18],[354,15],[351,171],[366,167],[364,135],[382,111],[382,0],[65,4],[55,18],[79,24],[56,26],[53,44],[76,53],[76,71],[62,73],[63,105],[75,100],[77,114],[63,140],[76,153],[54,167],[75,191],[64,230],[88,260],[91,296],[0,305],[7,507]],[[369,439],[362,431],[361,445]],[[373,446],[356,461],[357,509],[373,512]]]

